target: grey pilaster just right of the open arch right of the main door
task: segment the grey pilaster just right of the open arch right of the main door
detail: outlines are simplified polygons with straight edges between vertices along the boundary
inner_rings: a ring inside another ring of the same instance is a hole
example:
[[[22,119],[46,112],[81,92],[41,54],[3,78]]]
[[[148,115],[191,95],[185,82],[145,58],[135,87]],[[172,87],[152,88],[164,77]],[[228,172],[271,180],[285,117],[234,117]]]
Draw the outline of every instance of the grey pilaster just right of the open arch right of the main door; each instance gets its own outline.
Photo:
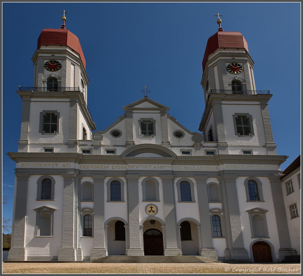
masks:
[[[209,205],[206,180],[208,176],[194,176],[197,184],[198,206],[200,223],[203,222],[203,227],[200,227],[201,247],[199,254],[203,257],[208,257],[218,260],[218,254],[212,244],[211,225],[209,223]]]

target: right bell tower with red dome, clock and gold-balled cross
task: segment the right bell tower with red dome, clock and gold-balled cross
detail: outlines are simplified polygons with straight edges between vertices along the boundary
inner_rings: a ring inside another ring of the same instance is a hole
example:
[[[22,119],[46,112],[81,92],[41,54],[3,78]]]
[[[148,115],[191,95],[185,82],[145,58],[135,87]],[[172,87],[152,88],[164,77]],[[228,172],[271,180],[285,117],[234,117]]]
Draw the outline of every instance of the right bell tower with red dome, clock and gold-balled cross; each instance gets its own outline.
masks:
[[[254,61],[239,32],[218,32],[206,45],[202,68],[205,111],[199,130],[218,154],[276,155],[268,112],[270,90],[257,90]]]

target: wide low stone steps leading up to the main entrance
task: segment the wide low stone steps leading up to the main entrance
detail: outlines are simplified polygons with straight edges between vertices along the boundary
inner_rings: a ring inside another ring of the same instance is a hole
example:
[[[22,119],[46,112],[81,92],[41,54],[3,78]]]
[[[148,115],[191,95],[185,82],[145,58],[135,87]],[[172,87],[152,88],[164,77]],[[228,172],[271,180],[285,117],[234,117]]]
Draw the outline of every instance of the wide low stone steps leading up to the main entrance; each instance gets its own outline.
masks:
[[[216,263],[202,256],[106,256],[96,258],[94,263]]]

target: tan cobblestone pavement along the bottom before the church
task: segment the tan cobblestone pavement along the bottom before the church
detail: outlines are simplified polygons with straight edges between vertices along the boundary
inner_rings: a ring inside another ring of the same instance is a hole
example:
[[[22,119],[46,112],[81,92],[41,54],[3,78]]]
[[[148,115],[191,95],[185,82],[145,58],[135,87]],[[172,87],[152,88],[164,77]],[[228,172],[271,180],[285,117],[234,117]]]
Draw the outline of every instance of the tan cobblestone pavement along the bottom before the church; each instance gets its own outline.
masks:
[[[2,263],[2,273],[295,273],[300,264],[226,264],[226,263]]]

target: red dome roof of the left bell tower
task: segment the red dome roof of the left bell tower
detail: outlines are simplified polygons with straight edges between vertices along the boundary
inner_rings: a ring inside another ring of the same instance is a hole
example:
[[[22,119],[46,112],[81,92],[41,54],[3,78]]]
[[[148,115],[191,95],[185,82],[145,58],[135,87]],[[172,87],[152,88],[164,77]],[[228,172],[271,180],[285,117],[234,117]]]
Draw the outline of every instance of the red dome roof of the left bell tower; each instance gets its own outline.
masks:
[[[38,38],[37,49],[39,49],[41,45],[68,46],[79,54],[84,68],[86,66],[85,58],[78,37],[67,29],[43,29]]]

